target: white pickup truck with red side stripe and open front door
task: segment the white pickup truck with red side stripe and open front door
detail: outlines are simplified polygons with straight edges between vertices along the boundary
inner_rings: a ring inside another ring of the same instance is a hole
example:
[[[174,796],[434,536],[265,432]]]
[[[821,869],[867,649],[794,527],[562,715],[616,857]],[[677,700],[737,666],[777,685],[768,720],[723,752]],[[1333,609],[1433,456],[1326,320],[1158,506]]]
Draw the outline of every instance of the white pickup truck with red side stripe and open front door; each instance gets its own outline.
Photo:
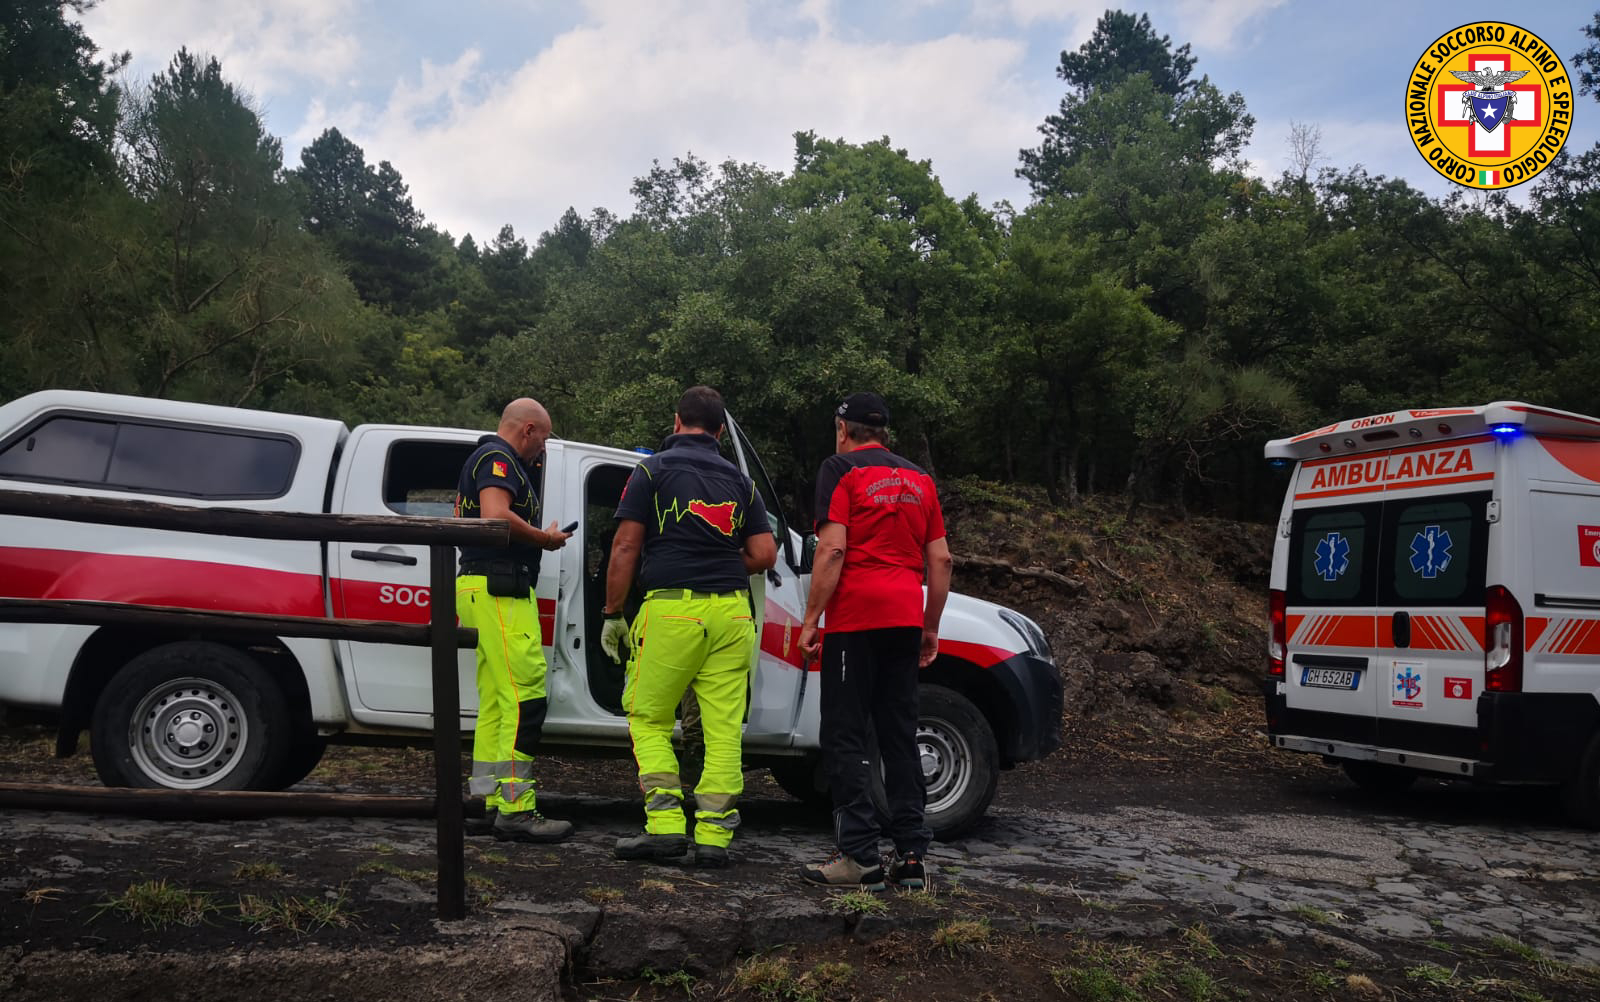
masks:
[[[826,802],[818,682],[797,635],[806,539],[792,528],[749,442],[730,419],[730,456],[755,480],[779,541],[774,571],[750,578],[762,643],[744,728],[747,765]],[[205,507],[448,515],[480,432],[363,424],[45,391],[0,407],[0,487]],[[536,592],[549,656],[544,747],[627,754],[622,669],[598,645],[613,512],[637,455],[552,439],[544,520],[576,520],[541,563]],[[0,597],[83,599],[288,616],[426,623],[422,546],[320,544],[0,517]],[[941,655],[922,677],[928,821],[976,823],[1002,768],[1061,741],[1061,677],[1026,616],[952,594]],[[461,651],[459,727],[477,709],[474,655]],[[54,714],[58,754],[90,730],[107,784],[282,789],[330,741],[426,741],[426,648],[264,635],[0,624],[0,704]],[[619,765],[619,768],[622,768]]]

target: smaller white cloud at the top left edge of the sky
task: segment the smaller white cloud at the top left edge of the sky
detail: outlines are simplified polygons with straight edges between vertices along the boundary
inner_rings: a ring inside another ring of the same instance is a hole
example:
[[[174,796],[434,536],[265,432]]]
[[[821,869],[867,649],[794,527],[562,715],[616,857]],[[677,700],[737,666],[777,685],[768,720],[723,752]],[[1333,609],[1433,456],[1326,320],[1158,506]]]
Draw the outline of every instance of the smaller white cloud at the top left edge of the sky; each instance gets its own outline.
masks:
[[[269,96],[339,83],[360,59],[360,0],[107,0],[83,16],[107,51],[133,51],[134,78],[181,48],[216,56],[229,80]]]

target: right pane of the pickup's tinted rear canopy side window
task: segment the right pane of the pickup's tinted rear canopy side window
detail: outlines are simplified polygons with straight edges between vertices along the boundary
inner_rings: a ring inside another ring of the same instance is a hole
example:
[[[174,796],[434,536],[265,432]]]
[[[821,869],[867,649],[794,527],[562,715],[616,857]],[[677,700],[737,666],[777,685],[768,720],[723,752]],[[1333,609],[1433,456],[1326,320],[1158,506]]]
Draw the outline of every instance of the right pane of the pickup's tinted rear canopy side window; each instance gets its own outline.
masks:
[[[298,463],[299,447],[290,439],[122,423],[106,487],[182,498],[280,498]]]

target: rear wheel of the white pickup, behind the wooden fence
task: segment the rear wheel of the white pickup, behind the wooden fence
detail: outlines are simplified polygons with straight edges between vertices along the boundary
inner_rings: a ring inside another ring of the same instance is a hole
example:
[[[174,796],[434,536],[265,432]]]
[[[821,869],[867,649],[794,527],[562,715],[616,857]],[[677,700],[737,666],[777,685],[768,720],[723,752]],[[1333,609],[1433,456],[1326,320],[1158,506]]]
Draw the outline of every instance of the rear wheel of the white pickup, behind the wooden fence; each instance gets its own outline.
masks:
[[[264,789],[285,775],[290,720],[283,693],[250,655],[186,640],[112,677],[90,747],[106,786]]]

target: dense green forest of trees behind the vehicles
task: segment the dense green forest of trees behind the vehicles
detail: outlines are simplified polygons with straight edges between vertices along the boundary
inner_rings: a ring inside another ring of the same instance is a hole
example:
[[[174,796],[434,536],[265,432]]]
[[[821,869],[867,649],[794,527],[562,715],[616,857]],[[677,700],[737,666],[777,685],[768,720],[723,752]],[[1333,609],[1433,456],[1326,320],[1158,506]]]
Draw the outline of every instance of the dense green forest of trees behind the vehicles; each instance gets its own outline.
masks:
[[[1277,504],[1270,435],[1507,397],[1600,408],[1600,147],[1523,203],[1440,200],[1330,163],[1307,123],[1294,168],[1254,178],[1245,96],[1149,16],[1107,11],[1061,54],[1022,208],[957,198],[891,138],[798,131],[787,170],[685,154],[640,165],[626,214],[480,243],[338,130],[285,163],[205,54],[126,80],[83,8],[0,11],[0,400],[477,427],[530,394],[560,435],[653,445],[709,383],[803,496],[827,408],[872,387],[941,477],[1243,515]],[[1600,14],[1584,30],[1590,94]]]

